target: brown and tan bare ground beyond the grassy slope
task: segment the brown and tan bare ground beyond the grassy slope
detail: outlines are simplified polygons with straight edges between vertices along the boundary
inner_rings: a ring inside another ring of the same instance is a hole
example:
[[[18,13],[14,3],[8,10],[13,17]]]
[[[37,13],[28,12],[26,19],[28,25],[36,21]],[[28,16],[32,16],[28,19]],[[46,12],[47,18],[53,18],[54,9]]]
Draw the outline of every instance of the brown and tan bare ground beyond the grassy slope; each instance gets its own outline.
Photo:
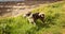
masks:
[[[0,3],[0,17],[18,16],[30,12],[35,7],[54,1],[26,1],[26,2],[3,2]]]

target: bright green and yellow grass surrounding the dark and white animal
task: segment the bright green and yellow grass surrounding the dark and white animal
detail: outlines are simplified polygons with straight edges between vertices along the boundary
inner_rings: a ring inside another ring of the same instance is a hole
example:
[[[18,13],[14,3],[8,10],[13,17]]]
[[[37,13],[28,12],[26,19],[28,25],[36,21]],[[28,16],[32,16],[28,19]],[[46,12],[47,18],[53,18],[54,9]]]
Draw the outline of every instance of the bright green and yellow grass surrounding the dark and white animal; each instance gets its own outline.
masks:
[[[46,15],[44,24],[37,20],[36,26],[23,16],[0,18],[0,34],[62,34],[65,29],[65,2],[56,2],[36,7],[32,13]]]

